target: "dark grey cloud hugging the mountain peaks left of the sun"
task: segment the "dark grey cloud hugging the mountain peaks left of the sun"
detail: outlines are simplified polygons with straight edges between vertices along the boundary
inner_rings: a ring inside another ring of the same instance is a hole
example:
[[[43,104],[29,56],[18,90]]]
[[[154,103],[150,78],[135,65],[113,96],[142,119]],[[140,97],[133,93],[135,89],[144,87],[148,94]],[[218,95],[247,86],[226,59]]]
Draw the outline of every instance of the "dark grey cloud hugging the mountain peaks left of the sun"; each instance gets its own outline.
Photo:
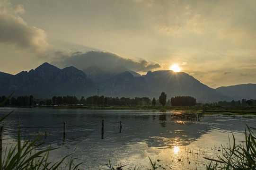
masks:
[[[147,72],[149,70],[161,68],[159,64],[150,63],[145,59],[127,59],[119,56],[118,54],[103,51],[89,51],[86,53],[78,51],[68,52],[66,54],[58,51],[54,55],[55,60],[52,62],[54,65],[59,67],[74,66],[81,70],[90,66],[97,66],[104,70],[124,67],[138,72]]]

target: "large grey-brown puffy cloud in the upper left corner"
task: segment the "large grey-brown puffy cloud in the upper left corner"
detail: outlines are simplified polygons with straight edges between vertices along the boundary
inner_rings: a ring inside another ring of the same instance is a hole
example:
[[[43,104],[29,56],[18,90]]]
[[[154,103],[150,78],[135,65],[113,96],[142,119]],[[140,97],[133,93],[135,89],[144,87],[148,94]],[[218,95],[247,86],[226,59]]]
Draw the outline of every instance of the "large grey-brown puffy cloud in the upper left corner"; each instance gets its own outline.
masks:
[[[46,33],[35,26],[28,26],[19,17],[24,13],[22,5],[14,5],[8,0],[0,1],[0,42],[14,45],[18,49],[44,52],[48,47]]]

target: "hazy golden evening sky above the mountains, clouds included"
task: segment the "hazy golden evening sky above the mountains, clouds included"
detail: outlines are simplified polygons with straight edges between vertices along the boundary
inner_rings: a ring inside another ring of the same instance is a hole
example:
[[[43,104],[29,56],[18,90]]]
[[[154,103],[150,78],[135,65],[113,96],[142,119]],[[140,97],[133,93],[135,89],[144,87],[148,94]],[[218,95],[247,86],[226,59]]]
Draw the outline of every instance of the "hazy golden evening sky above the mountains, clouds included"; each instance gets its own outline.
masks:
[[[256,0],[0,0],[0,71],[181,71],[256,84]]]

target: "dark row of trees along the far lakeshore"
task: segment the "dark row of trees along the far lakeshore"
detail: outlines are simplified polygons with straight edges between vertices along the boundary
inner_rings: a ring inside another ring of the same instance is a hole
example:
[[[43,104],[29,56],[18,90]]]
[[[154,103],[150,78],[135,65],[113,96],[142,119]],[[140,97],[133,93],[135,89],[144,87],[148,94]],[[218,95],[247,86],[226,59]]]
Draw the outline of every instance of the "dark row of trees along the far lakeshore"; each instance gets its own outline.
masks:
[[[0,96],[0,102],[4,101],[6,96]],[[193,101],[193,102],[191,102]],[[136,105],[168,105],[168,106],[189,106],[195,105],[195,98],[191,96],[178,96],[172,97],[167,101],[167,94],[162,92],[159,99],[149,97],[105,97],[102,96],[89,96],[85,98],[82,96],[78,99],[76,96],[53,96],[52,99],[35,99],[33,95],[12,97],[6,105],[16,106],[31,106],[31,105],[93,105],[93,106],[136,106]]]

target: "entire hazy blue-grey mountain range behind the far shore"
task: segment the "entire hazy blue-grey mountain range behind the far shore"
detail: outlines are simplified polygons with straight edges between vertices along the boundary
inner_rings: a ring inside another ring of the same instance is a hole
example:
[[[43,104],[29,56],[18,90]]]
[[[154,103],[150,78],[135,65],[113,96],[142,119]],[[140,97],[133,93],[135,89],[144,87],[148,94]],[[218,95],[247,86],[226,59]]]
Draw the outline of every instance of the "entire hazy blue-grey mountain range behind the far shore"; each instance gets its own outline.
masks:
[[[168,99],[175,96],[193,96],[197,102],[218,102],[255,99],[256,85],[233,85],[210,88],[184,72],[171,70],[148,71],[140,75],[127,68],[118,67],[103,71],[89,67],[79,70],[74,67],[57,68],[49,63],[22,71],[16,75],[0,72],[0,95],[34,95],[35,98],[55,96],[104,95],[109,97],[155,97],[161,92]]]

